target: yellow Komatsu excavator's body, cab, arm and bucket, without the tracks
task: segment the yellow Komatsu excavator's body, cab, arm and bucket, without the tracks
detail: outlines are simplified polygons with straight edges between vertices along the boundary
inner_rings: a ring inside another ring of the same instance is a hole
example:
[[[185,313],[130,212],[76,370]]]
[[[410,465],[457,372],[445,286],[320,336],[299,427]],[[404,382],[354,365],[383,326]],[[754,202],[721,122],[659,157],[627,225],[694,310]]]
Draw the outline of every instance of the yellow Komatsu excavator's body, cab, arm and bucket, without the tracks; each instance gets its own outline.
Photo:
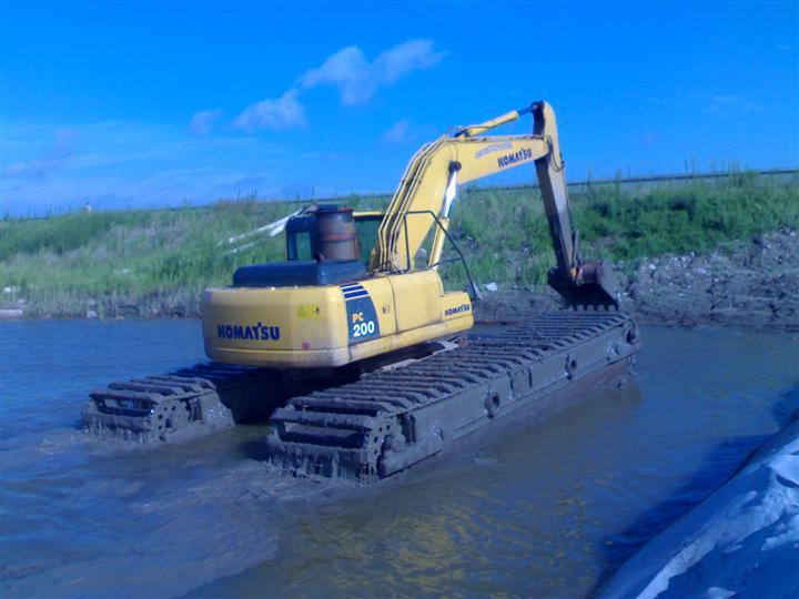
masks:
[[[486,135],[527,113],[532,134]],[[471,293],[447,293],[438,273],[457,186],[525,164],[535,164],[557,256],[549,284],[569,305],[616,306],[611,271],[579,255],[555,113],[535,102],[423,146],[385,214],[315,206],[291,219],[285,262],[244,266],[233,286],[205,292],[206,354],[230,364],[343,366],[472,327],[471,276]],[[362,255],[365,232],[375,223],[376,243]],[[431,231],[427,260],[419,265]]]

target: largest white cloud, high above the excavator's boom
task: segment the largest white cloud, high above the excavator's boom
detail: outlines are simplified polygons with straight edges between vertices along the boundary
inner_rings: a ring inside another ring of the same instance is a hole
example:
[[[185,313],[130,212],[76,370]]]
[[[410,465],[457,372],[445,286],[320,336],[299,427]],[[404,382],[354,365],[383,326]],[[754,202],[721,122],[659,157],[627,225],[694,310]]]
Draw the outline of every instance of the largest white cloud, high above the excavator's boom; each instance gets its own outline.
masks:
[[[321,67],[300,77],[304,89],[317,85],[338,88],[344,105],[363,104],[372,99],[377,88],[393,85],[414,71],[435,67],[444,58],[436,52],[431,40],[411,40],[366,60],[357,45],[350,45],[327,57]]]

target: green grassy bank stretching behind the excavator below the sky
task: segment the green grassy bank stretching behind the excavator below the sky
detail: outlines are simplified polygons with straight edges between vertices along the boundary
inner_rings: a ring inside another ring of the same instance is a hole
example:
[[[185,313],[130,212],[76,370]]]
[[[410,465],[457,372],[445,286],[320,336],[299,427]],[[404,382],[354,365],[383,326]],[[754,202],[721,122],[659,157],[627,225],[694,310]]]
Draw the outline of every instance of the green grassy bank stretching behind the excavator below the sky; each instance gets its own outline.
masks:
[[[719,242],[799,227],[799,180],[747,173],[712,183],[604,184],[572,193],[584,254],[628,261],[705,252]],[[340,203],[382,209],[388,197]],[[231,202],[203,210],[71,213],[0,221],[2,307],[30,315],[192,313],[200,292],[227,284],[243,264],[281,260],[282,237],[231,254],[227,238],[270,223],[296,204]],[[544,282],[553,263],[538,191],[463,190],[452,232],[475,277],[500,287]],[[445,273],[452,284],[461,273]]]

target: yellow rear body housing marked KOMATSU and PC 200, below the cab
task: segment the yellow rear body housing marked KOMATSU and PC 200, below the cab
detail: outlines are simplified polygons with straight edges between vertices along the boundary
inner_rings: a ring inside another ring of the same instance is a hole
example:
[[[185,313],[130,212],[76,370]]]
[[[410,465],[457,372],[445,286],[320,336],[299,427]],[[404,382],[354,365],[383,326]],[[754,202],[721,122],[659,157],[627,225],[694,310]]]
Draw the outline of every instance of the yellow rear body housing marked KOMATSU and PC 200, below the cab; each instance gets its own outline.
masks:
[[[202,303],[205,353],[230,364],[343,366],[474,324],[465,292],[436,271],[309,287],[219,287]]]

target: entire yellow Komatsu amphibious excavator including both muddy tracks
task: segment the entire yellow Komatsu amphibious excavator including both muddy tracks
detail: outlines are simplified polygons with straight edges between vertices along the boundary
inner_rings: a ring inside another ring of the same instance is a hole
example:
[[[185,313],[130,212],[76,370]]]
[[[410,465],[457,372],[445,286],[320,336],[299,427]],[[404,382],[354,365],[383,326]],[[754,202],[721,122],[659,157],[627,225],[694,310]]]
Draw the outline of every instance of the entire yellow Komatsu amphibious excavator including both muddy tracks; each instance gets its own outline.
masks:
[[[487,135],[528,113],[532,134]],[[477,287],[448,234],[457,187],[530,163],[557,257],[548,282],[568,309],[465,334]],[[468,288],[445,292],[439,266],[458,260]],[[535,102],[423,146],[385,213],[287,219],[285,261],[205,291],[213,362],[93,392],[83,426],[149,441],[267,418],[279,470],[374,481],[519,408],[624,378],[640,342],[617,308],[610,267],[578,251],[555,114]]]

